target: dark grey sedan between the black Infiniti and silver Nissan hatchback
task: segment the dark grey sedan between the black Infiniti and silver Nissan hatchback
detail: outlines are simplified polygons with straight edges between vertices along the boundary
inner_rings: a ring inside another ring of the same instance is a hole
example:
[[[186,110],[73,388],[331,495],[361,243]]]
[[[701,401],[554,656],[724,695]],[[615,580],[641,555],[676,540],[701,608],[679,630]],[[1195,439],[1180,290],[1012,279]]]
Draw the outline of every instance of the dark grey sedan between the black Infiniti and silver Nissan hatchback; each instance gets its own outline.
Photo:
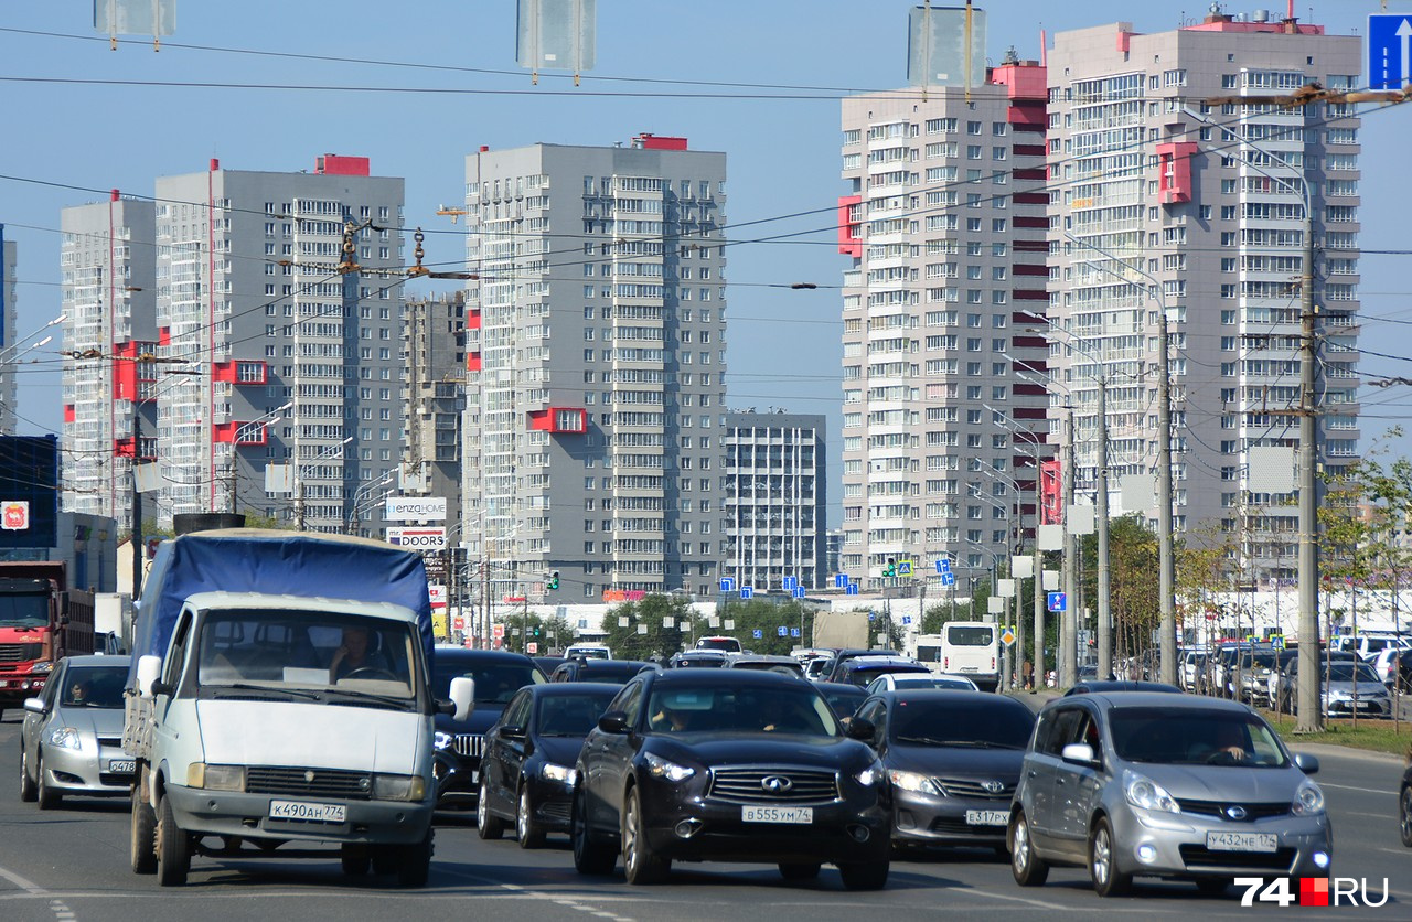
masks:
[[[854,720],[875,727],[894,842],[1005,847],[1010,801],[1035,729],[1027,705],[986,692],[882,692]]]

